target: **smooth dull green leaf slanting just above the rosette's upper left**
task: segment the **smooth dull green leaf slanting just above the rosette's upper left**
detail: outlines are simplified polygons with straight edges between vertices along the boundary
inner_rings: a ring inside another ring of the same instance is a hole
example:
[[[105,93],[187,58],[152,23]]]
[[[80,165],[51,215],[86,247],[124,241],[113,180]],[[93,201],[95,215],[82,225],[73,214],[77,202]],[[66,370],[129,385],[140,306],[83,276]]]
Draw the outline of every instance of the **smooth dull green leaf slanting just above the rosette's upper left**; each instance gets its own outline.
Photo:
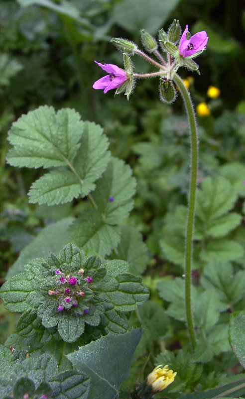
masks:
[[[49,252],[58,254],[68,242],[67,229],[73,218],[66,217],[44,227],[40,233],[20,252],[18,259],[9,268],[7,278],[24,271],[24,265],[30,259],[43,258]]]

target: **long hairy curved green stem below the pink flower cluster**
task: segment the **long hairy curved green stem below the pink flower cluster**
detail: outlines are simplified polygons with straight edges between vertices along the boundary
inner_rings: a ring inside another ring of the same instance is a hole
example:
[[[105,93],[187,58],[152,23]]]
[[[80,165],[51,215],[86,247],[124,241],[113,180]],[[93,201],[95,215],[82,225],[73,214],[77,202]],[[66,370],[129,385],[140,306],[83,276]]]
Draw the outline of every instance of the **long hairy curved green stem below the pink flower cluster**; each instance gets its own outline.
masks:
[[[196,335],[193,324],[192,306],[191,306],[191,264],[192,264],[192,238],[194,231],[195,218],[195,203],[196,203],[196,189],[197,189],[197,167],[198,167],[198,139],[197,126],[195,120],[194,108],[191,102],[190,95],[185,87],[182,79],[175,74],[174,82],[179,88],[183,97],[186,111],[190,123],[191,130],[191,183],[189,190],[189,207],[187,215],[187,231],[186,231],[186,247],[185,247],[185,308],[187,326],[189,330],[192,348],[196,346]]]

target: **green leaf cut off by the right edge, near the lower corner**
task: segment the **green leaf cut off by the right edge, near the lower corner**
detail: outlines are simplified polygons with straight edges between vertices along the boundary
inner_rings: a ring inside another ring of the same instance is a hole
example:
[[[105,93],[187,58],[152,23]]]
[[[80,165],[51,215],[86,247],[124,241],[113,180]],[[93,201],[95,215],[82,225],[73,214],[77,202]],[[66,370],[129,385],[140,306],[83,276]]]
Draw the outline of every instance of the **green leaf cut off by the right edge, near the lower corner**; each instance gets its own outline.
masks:
[[[229,339],[235,355],[245,368],[245,311],[231,314]]]

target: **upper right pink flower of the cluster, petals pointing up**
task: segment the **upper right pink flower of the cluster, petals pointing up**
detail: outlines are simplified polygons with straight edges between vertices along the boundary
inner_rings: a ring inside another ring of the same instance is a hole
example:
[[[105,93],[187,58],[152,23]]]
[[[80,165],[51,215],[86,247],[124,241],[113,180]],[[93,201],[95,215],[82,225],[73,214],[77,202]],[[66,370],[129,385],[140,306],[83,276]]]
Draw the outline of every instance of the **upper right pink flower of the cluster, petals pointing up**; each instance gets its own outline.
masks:
[[[196,33],[195,35],[191,36],[190,39],[186,39],[187,32],[188,25],[186,25],[184,33],[179,42],[179,53],[183,57],[189,57],[198,51],[204,50],[208,41],[208,36],[205,31]]]

